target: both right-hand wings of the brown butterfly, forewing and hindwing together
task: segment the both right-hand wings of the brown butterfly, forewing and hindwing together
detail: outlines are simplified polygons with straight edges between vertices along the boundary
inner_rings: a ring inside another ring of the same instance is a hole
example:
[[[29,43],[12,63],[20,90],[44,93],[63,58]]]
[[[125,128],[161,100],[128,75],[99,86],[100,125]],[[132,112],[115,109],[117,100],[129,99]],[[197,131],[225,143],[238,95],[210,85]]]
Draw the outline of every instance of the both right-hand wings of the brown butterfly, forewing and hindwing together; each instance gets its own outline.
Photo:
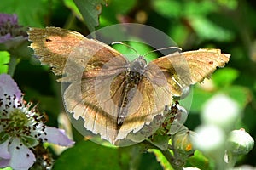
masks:
[[[212,72],[217,67],[223,67],[229,58],[229,54],[221,54],[219,49],[199,49],[154,59],[146,67],[136,97],[131,101],[134,105],[139,105],[138,109],[125,118],[121,130],[125,132],[132,129],[137,132],[142,129],[144,125],[152,122],[155,116],[163,114],[165,105],[172,104],[173,96],[181,96],[184,88],[209,78]],[[138,104],[137,96],[140,95],[142,101]],[[147,137],[154,133],[154,130],[147,130],[147,134],[135,138]],[[122,134],[119,133],[117,139],[124,138]]]

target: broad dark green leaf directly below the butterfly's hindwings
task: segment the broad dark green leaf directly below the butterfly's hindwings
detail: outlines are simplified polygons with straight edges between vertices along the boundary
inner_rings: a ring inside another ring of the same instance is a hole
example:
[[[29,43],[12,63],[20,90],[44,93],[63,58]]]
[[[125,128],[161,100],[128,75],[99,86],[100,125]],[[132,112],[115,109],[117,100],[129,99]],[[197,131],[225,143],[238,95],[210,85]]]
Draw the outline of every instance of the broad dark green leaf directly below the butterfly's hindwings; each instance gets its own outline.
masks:
[[[55,161],[53,169],[121,170],[128,166],[128,162],[125,157],[126,156],[119,154],[118,149],[104,147],[102,145],[83,140],[75,144],[73,148],[65,150],[59,159]]]

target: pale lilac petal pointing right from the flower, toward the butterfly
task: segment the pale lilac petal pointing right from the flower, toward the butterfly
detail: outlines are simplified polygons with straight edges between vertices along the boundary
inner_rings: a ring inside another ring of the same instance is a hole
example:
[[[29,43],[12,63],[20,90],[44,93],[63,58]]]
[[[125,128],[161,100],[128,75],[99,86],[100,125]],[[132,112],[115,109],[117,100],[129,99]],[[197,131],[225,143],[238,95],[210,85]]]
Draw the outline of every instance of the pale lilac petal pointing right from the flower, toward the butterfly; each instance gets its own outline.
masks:
[[[71,146],[74,144],[73,140],[68,139],[64,130],[55,127],[45,127],[46,135],[42,134],[40,138],[47,139],[47,142],[58,144],[61,146]]]

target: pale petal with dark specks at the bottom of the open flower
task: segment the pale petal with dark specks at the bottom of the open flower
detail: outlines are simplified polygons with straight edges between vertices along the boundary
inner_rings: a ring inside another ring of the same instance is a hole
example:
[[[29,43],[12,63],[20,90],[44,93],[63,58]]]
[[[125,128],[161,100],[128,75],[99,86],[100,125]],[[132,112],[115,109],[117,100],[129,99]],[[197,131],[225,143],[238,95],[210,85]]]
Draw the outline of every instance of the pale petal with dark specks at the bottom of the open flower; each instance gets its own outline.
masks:
[[[20,145],[20,139],[16,138],[12,141],[9,145],[9,151],[11,153],[9,166],[15,170],[28,169],[36,161],[32,151],[24,144]]]

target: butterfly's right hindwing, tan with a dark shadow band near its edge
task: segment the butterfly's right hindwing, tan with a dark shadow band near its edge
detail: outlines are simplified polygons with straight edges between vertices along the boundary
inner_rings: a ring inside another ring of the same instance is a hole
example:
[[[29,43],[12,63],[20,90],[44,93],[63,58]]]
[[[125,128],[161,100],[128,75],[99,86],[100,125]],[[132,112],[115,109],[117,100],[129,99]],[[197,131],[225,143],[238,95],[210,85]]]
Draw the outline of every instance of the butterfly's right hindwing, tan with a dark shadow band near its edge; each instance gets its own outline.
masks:
[[[151,78],[143,77],[139,82],[137,92],[131,99],[131,106],[135,108],[130,108],[131,114],[125,117],[116,140],[124,139],[130,132],[137,133],[145,125],[149,125],[154,120],[154,116],[163,114],[164,105],[171,104],[172,94],[170,94],[167,83],[163,83],[165,77],[162,77],[161,84],[153,82]],[[142,138],[147,138],[157,130],[156,128],[149,129]]]

